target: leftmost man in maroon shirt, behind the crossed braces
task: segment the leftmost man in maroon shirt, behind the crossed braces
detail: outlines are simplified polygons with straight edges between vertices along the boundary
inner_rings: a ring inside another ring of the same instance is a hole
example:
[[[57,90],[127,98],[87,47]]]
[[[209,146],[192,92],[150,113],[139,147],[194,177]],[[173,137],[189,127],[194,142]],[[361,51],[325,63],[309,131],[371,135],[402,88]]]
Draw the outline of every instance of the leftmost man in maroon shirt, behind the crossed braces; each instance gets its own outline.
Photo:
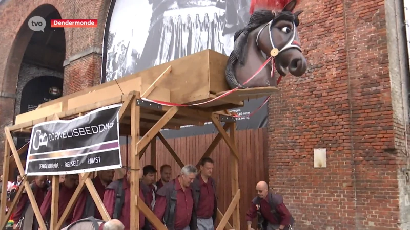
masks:
[[[30,187],[33,190],[35,201],[40,207],[43,203],[44,197],[47,194],[47,176],[36,176]],[[38,229],[37,218],[34,215],[29,197],[26,190],[23,191],[22,197],[17,203],[16,211],[13,216],[14,229]]]

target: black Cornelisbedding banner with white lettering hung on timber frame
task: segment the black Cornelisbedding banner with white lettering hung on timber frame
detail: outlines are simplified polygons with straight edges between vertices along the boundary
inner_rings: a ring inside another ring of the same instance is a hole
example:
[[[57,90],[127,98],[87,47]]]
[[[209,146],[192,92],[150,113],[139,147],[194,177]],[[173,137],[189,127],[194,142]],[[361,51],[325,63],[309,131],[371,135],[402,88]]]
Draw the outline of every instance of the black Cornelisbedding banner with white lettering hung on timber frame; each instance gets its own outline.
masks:
[[[121,168],[118,122],[121,106],[102,107],[69,121],[35,125],[26,174],[66,175]]]

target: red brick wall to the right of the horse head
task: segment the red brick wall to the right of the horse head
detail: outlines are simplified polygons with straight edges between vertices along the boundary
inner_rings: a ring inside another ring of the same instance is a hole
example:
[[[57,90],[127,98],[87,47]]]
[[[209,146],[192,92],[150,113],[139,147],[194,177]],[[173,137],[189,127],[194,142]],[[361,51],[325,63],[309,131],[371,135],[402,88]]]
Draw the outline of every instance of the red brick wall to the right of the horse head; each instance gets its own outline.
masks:
[[[308,73],[269,103],[270,186],[298,229],[397,229],[393,110],[383,0],[304,1]],[[327,168],[313,167],[326,148]]]

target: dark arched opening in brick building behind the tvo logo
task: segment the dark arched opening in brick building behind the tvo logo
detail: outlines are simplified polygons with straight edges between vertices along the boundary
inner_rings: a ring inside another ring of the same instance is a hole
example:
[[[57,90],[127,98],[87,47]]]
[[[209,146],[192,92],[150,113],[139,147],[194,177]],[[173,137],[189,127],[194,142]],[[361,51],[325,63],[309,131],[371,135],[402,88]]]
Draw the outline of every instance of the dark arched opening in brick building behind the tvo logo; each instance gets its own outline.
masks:
[[[28,27],[28,21],[33,16],[45,19],[44,31],[32,31]],[[28,15],[16,35],[7,62],[5,72],[7,79],[2,83],[3,91],[14,93],[12,89],[15,89],[15,100],[12,107],[14,109],[1,112],[2,117],[5,118],[0,121],[2,126],[11,125],[18,114],[35,109],[45,100],[61,96],[66,39],[64,28],[51,28],[51,19],[61,19],[57,9],[50,4],[40,5]],[[50,94],[50,91],[57,92],[57,94]],[[41,100],[36,101],[39,98]],[[22,147],[25,139],[26,136],[15,137],[16,147]],[[25,155],[21,155],[24,160]],[[10,174],[10,180],[15,177],[16,174]]]

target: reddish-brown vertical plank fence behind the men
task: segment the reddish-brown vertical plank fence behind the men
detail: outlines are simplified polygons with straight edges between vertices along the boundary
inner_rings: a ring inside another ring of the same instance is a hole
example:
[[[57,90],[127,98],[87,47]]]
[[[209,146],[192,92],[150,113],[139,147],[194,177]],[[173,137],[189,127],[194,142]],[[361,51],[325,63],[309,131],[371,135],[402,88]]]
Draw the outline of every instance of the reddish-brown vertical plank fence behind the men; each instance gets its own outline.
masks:
[[[184,164],[196,165],[207,150],[209,145],[214,140],[216,134],[198,135],[190,137],[181,137],[178,139],[168,139],[168,143],[177,153]],[[241,190],[240,198],[240,217],[241,229],[246,230],[245,213],[249,209],[249,205],[253,197],[256,196],[256,183],[260,180],[269,180],[268,176],[268,157],[267,154],[267,129],[252,129],[240,130],[236,134],[236,143],[239,150],[239,188]],[[172,178],[175,178],[180,171],[180,167],[175,162],[174,158],[163,146],[160,140],[157,140],[157,167],[159,178],[159,167],[163,164],[171,165]],[[130,144],[128,145],[128,153],[130,152]],[[124,165],[129,164],[127,157],[127,146],[121,146],[122,161]],[[147,148],[144,156],[141,158],[141,165],[151,164],[150,147]],[[224,213],[232,200],[231,195],[231,170],[230,170],[230,149],[227,144],[221,140],[218,146],[211,154],[211,158],[215,160],[214,179],[217,183],[218,208]],[[118,176],[115,177],[118,179]],[[229,221],[232,224],[232,218]],[[255,225],[256,221],[254,221]],[[254,226],[256,229],[256,227]]]

